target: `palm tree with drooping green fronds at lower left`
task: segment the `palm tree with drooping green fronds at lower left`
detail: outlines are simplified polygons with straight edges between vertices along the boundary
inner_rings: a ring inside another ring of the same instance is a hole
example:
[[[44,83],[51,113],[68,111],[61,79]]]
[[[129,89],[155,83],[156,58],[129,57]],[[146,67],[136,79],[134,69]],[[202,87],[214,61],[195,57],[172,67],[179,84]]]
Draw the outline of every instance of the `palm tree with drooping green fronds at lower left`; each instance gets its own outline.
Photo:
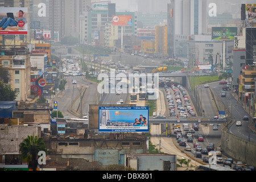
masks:
[[[38,166],[38,152],[46,152],[46,144],[43,138],[38,138],[38,136],[27,136],[22,143],[19,144],[19,153],[21,159],[28,163],[28,168],[32,168],[33,171],[36,170]]]

